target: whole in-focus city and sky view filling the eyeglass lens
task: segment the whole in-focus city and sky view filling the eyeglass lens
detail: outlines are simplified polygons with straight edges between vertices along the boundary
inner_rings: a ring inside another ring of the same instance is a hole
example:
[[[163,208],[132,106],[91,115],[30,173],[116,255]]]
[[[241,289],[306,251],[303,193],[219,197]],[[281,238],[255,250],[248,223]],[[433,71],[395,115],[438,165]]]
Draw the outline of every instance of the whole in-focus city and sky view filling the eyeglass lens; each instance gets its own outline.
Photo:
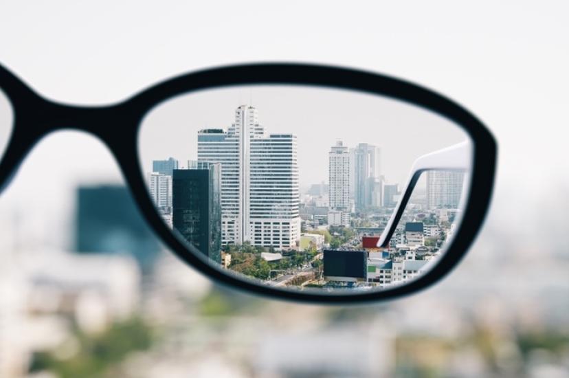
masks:
[[[265,285],[334,293],[399,285],[436,263],[465,172],[423,173],[388,247],[377,243],[414,161],[464,140],[456,124],[389,98],[267,85],[160,104],[140,156],[157,212],[203,258]]]

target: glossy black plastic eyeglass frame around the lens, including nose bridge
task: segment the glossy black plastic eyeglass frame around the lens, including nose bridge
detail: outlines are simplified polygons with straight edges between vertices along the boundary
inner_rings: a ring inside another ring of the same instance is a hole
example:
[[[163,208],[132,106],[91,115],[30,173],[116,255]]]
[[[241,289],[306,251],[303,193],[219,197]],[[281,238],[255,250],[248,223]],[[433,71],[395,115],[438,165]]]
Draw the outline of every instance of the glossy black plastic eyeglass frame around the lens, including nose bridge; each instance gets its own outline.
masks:
[[[238,278],[207,263],[197,251],[188,251],[156,212],[148,194],[138,155],[139,126],[150,109],[182,93],[232,85],[312,85],[386,96],[414,104],[455,122],[471,137],[473,166],[469,201],[460,228],[439,263],[423,276],[401,286],[353,293],[315,293],[278,289]],[[251,64],[197,71],[150,87],[137,95],[103,107],[78,107],[46,100],[0,66],[0,88],[14,111],[10,142],[0,162],[0,190],[8,184],[27,153],[42,137],[62,129],[86,131],[106,144],[117,160],[146,221],[162,241],[186,263],[231,287],[302,302],[350,303],[405,296],[434,284],[456,267],[476,237],[489,207],[495,175],[496,144],[474,115],[456,102],[401,79],[366,71],[306,64]]]

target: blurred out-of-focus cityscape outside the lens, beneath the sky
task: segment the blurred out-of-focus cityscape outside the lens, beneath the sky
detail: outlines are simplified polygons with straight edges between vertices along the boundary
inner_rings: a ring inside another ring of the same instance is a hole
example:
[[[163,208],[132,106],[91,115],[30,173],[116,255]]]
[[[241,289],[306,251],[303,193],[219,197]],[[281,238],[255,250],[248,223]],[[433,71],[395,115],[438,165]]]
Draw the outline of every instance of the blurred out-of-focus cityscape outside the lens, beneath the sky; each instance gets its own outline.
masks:
[[[80,249],[72,252],[21,247],[19,223],[1,214],[1,377],[569,374],[568,260],[525,251],[500,224],[432,289],[383,304],[318,307],[218,287],[150,238],[148,267],[133,253],[151,233],[132,201],[122,202],[122,225],[82,229],[105,223],[89,199],[105,196],[111,205],[125,194],[122,186],[77,189],[78,227],[68,231]]]

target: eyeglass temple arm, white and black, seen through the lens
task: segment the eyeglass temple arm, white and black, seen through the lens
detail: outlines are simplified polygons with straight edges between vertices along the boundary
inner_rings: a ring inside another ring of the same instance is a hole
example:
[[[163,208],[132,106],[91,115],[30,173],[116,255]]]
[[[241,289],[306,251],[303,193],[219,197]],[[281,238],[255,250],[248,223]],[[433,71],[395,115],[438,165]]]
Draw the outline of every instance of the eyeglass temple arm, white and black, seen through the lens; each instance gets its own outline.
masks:
[[[468,170],[471,166],[471,158],[472,152],[470,143],[461,142],[432,153],[427,153],[419,157],[419,159],[416,159],[411,168],[405,189],[403,190],[403,195],[399,198],[391,214],[391,218],[386,225],[386,229],[383,230],[381,238],[379,238],[377,246],[380,248],[389,247],[391,237],[399,224],[403,210],[405,210],[407,206],[421,173],[425,170]]]

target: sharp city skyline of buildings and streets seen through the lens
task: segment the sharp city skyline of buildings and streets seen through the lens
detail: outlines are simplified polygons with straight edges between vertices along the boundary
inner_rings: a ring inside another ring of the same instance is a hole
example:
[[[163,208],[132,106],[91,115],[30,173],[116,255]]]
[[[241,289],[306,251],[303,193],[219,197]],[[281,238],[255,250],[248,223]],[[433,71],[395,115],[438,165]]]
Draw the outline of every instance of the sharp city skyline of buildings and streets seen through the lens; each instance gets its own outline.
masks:
[[[312,105],[305,104],[302,110],[280,104],[280,114],[292,114],[302,124],[307,122],[306,112],[314,111]],[[263,109],[249,103],[231,111],[220,108],[218,113],[233,113],[232,122],[186,127],[186,134],[180,135],[168,131],[172,126],[161,120],[164,127],[153,146],[161,146],[164,139],[172,146],[190,140],[196,157],[183,167],[174,157],[175,147],[155,155],[151,169],[158,172],[148,173],[148,185],[164,221],[222,269],[272,286],[381,289],[420,276],[444,252],[457,215],[460,219],[463,178],[444,170],[422,175],[416,183],[389,247],[378,249],[375,239],[388,225],[418,151],[428,148],[427,153],[432,153],[448,137],[440,130],[429,129],[427,138],[423,124],[395,128],[404,129],[406,135],[399,140],[397,159],[392,159],[372,143],[371,129],[357,132],[357,126],[350,124],[346,128],[350,133],[326,146],[325,153],[322,144],[331,139],[329,133],[304,144],[311,146],[312,159],[301,165],[298,146],[306,140],[288,129],[275,132],[274,125],[260,116]],[[326,114],[344,120],[346,115],[357,118],[355,113],[328,109]],[[188,120],[175,122],[188,124]],[[294,126],[290,129],[302,134]],[[186,137],[188,131],[192,137]],[[376,140],[386,140],[386,135],[378,131]],[[450,135],[456,141],[460,133]],[[327,157],[325,165],[320,165],[322,157]],[[383,164],[401,168],[396,178],[384,173],[392,170],[384,170]],[[205,165],[208,169],[203,169]],[[322,180],[328,182],[327,193],[322,187],[317,197],[301,197],[299,176],[304,169],[327,173],[327,180]],[[376,245],[366,241],[370,237]]]

